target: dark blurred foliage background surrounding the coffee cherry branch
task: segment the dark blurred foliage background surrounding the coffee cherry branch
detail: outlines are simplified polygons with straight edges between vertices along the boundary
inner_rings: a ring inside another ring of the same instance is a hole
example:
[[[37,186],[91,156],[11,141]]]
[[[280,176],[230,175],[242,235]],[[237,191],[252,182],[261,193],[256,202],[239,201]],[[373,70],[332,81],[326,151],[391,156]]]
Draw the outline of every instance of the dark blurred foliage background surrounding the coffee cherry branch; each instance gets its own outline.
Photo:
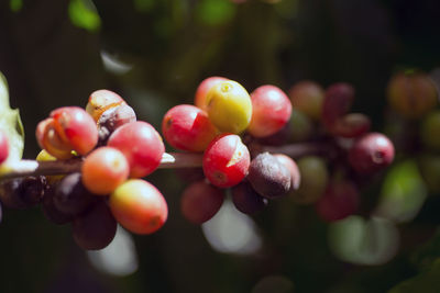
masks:
[[[382,132],[400,125],[386,115],[393,72],[440,66],[439,13],[437,0],[0,0],[0,71],[24,124],[24,158],[38,153],[35,126],[51,110],[85,106],[97,89],[160,129],[209,76],[249,91],[351,82],[353,109]],[[195,226],[173,170],[147,178],[167,199],[166,225],[151,236],[119,229],[101,251],[79,249],[37,207],[7,210],[0,292],[440,292],[440,201],[413,155],[363,191],[381,216],[331,225],[283,200],[254,217],[227,201]]]

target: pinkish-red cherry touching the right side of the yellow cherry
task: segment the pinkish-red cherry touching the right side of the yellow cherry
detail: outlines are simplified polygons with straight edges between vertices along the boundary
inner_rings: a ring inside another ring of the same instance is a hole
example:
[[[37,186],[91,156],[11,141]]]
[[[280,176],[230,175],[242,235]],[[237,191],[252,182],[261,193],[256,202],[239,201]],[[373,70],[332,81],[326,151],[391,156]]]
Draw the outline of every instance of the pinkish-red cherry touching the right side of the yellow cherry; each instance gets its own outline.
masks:
[[[262,86],[251,93],[252,119],[248,132],[255,137],[270,136],[289,121],[292,103],[277,87]]]

